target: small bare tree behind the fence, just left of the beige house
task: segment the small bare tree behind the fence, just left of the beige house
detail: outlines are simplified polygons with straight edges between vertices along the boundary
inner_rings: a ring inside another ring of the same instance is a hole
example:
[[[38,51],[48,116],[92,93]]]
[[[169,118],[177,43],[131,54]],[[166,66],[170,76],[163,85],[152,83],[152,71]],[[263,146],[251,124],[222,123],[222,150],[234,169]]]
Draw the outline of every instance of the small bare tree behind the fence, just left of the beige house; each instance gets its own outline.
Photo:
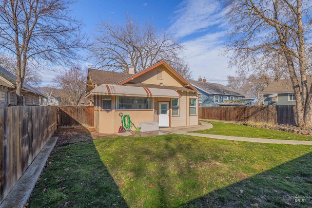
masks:
[[[71,105],[77,106],[81,95],[85,92],[86,79],[87,73],[81,70],[81,66],[76,66],[57,75],[53,82],[65,92]]]

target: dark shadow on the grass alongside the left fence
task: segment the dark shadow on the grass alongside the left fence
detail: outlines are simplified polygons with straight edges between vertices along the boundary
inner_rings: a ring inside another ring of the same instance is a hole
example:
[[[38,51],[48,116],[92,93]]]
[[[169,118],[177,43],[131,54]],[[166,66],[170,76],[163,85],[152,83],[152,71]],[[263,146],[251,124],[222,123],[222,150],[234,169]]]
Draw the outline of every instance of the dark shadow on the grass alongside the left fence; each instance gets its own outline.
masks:
[[[87,129],[77,136],[64,130],[33,190],[27,208],[120,207],[127,208],[119,187],[103,164]],[[76,129],[78,131],[78,129]],[[84,142],[81,142],[84,141]],[[78,142],[78,143],[77,143]],[[76,143],[76,144],[73,144]]]

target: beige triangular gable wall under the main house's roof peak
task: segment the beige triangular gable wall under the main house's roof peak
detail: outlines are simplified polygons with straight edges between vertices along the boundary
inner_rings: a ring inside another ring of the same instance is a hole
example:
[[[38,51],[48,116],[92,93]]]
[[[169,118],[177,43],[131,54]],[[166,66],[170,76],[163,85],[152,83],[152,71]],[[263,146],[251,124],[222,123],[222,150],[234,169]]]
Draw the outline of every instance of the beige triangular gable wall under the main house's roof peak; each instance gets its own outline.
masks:
[[[157,72],[161,73],[161,78],[157,78]],[[135,83],[156,84],[163,83],[164,86],[183,87],[183,83],[166,67],[158,66],[155,69],[132,80]]]

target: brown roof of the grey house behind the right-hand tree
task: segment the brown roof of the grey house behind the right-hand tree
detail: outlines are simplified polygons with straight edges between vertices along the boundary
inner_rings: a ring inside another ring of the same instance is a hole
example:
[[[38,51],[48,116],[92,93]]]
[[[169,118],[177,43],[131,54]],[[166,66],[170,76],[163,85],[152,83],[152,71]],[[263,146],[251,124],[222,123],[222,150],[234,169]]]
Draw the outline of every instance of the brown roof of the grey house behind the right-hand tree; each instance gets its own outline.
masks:
[[[301,79],[298,79],[298,81],[300,83]],[[310,89],[311,83],[312,83],[312,75],[307,75],[307,84],[308,84],[309,89]],[[301,91],[301,88],[300,88],[300,91]],[[279,81],[273,81],[268,85],[268,87],[266,87],[261,92],[262,95],[279,94],[279,93],[293,93],[291,79],[282,79]]]

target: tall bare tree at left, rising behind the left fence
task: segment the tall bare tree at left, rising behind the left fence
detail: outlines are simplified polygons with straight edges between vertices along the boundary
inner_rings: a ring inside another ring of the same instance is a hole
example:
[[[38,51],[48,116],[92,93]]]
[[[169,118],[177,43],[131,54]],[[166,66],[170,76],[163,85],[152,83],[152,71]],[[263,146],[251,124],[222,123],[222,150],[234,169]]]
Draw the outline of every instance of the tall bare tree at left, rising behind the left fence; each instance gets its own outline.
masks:
[[[0,0],[0,51],[16,58],[17,104],[29,62],[71,63],[83,46],[80,22],[70,17],[74,0]]]

